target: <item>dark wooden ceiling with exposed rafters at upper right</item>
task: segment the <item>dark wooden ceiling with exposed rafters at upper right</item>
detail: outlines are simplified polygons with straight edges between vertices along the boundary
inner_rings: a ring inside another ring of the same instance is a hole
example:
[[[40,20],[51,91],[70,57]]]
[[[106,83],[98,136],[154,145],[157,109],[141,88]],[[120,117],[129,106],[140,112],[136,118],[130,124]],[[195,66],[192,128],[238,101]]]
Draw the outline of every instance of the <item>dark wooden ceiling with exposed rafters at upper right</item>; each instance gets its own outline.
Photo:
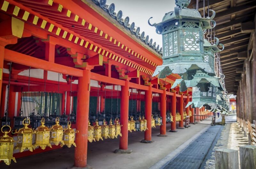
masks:
[[[251,33],[255,29],[256,0],[199,0],[198,11],[202,16],[204,9],[205,17],[208,16],[208,3],[209,9],[216,12],[212,36],[215,33],[215,37],[225,45],[220,52],[221,68],[226,76],[225,87],[228,93],[236,93],[235,82],[243,72],[244,59],[250,58],[252,53]],[[196,0],[192,0],[188,8],[196,9]]]

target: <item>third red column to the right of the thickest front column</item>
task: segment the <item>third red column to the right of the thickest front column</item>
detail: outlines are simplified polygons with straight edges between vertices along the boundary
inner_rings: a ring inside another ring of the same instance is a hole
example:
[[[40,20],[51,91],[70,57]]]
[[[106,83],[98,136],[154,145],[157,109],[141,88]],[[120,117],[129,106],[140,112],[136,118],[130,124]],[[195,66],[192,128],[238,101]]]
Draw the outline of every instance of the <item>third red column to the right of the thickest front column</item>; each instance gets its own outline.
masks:
[[[161,117],[163,118],[162,122],[163,125],[160,126],[160,134],[158,136],[167,136],[166,135],[166,90],[163,91],[160,95],[160,113]]]

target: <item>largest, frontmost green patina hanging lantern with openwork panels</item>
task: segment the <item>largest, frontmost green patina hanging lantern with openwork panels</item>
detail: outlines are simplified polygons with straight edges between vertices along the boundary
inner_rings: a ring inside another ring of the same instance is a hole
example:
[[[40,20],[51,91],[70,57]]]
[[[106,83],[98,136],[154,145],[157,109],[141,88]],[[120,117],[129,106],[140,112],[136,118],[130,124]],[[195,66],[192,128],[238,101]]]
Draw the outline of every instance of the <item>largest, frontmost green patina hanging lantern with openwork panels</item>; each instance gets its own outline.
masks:
[[[177,73],[188,80],[198,69],[214,76],[214,70],[204,62],[203,30],[215,27],[215,12],[210,10],[212,16],[202,18],[197,10],[187,8],[189,3],[190,0],[176,0],[174,11],[166,13],[162,22],[150,24],[148,20],[163,37],[163,65],[156,67],[153,76],[165,78]]]

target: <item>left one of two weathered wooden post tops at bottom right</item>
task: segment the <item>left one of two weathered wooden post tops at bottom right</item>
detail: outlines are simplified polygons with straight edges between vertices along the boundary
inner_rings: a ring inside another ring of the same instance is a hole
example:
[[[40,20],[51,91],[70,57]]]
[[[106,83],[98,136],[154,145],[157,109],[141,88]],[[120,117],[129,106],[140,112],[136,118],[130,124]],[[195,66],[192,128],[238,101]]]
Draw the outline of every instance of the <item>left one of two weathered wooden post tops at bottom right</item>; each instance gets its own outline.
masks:
[[[215,150],[215,169],[239,169],[238,150]]]

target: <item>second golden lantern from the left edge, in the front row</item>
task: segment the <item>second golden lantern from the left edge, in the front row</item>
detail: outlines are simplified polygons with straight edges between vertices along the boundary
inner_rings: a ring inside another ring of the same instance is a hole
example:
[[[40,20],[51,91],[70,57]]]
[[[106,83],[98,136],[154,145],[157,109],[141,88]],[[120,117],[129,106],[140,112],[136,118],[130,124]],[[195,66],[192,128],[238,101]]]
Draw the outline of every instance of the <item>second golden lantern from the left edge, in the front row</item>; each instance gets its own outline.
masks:
[[[28,125],[30,124],[29,119],[24,119],[22,121],[22,124],[24,125],[24,127],[20,128],[18,132],[17,130],[15,132],[12,132],[13,134],[17,134],[17,144],[14,149],[20,149],[20,152],[23,152],[26,149],[28,149],[29,151],[33,151],[32,139],[35,132],[32,130],[32,128],[28,127]]]

